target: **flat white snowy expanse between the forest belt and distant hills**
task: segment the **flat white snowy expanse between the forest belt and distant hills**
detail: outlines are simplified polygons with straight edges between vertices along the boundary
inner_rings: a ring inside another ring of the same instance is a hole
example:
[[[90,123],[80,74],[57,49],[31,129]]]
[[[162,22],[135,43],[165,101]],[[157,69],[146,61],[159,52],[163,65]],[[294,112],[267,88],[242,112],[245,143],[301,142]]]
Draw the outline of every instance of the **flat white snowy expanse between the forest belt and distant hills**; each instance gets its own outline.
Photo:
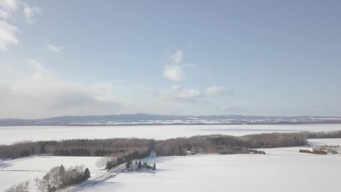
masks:
[[[323,125],[155,125],[155,126],[34,126],[0,127],[0,144],[21,140],[153,138],[169,139],[194,135],[225,134],[241,136],[256,133],[333,131],[341,124]]]

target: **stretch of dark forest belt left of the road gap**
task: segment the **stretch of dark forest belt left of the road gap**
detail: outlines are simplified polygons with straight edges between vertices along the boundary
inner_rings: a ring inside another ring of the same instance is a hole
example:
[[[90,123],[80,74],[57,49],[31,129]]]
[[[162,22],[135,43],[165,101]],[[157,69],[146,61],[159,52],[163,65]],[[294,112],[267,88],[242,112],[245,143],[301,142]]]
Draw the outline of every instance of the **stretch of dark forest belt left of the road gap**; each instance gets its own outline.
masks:
[[[150,152],[155,145],[152,139],[73,139],[61,141],[21,141],[0,145],[0,156],[11,159],[31,155],[124,157],[135,151]]]

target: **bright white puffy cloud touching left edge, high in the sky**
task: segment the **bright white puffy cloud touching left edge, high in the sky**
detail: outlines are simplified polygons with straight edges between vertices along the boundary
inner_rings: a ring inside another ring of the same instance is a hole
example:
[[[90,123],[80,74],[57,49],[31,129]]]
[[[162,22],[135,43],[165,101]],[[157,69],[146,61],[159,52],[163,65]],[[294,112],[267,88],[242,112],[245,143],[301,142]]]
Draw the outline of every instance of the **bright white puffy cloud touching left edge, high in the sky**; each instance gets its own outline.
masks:
[[[4,20],[0,20],[0,49],[7,50],[10,44],[18,44],[15,33],[19,29],[16,26],[8,24]]]

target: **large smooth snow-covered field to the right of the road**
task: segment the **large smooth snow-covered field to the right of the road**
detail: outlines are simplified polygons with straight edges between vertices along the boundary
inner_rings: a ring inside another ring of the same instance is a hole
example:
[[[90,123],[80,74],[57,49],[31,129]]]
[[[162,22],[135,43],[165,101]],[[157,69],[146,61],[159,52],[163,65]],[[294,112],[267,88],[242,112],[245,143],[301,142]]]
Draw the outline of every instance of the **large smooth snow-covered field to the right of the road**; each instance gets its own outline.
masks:
[[[340,192],[341,155],[156,157],[81,192]]]

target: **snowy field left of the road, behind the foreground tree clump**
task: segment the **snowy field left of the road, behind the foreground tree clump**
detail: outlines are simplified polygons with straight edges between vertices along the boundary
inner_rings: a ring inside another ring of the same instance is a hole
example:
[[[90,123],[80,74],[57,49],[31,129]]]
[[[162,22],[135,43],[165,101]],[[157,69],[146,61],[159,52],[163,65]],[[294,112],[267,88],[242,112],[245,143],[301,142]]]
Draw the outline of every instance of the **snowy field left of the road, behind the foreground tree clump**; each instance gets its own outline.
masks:
[[[3,192],[3,190],[11,185],[27,180],[30,180],[30,191],[35,192],[36,187],[33,179],[35,177],[41,179],[52,167],[60,166],[61,164],[66,169],[71,166],[84,164],[92,174],[91,179],[96,179],[97,173],[99,174],[98,176],[105,173],[105,171],[98,171],[98,167],[95,166],[99,158],[39,156],[0,162],[0,192]]]

